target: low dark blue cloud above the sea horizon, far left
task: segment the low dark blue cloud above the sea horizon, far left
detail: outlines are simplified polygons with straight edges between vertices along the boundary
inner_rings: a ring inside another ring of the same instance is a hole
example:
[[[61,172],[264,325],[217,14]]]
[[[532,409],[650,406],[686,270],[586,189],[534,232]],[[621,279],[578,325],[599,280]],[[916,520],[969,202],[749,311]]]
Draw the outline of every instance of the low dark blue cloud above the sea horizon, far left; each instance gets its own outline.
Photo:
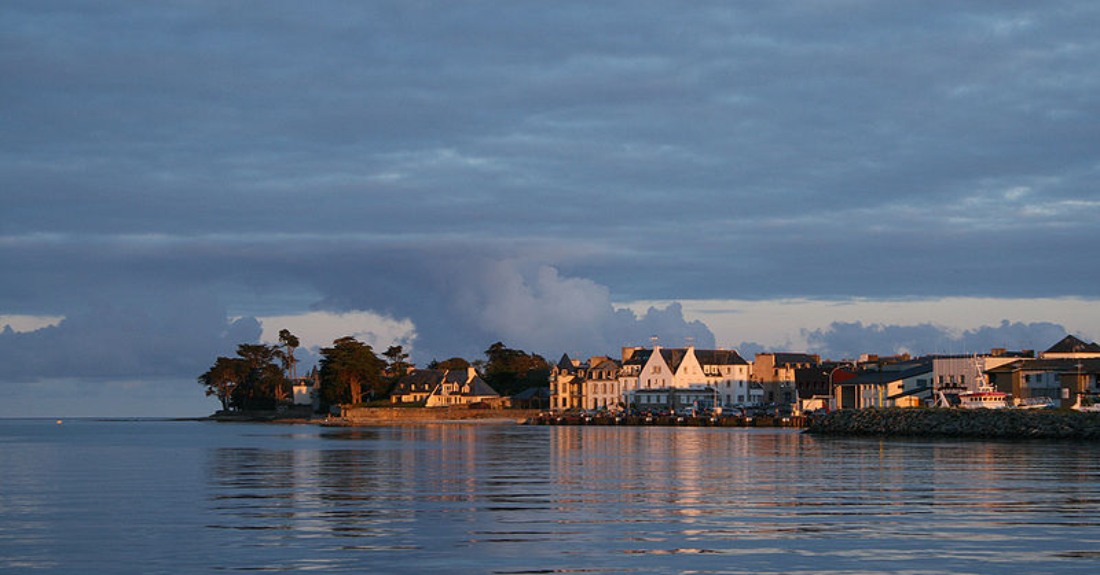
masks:
[[[260,336],[254,318],[229,320],[202,294],[90,303],[56,325],[0,333],[0,379],[197,377],[219,354]]]

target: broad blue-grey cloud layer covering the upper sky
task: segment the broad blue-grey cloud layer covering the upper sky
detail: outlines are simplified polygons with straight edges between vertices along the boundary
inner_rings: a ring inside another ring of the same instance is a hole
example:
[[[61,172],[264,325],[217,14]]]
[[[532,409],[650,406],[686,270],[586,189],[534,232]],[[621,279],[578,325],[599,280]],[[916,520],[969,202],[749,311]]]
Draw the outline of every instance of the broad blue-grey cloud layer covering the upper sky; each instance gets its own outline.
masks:
[[[546,263],[618,300],[1100,295],[1092,2],[404,4],[16,3],[0,233],[583,244]]]

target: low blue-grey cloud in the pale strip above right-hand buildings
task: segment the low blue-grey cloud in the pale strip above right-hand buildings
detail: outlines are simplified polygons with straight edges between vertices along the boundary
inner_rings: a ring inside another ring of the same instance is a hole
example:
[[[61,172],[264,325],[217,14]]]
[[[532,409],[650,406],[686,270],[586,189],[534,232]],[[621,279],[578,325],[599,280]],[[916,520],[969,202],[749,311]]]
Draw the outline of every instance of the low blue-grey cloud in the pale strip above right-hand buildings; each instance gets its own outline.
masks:
[[[1066,329],[1050,322],[1010,322],[982,325],[959,332],[932,323],[910,325],[862,322],[833,322],[827,328],[803,330],[810,351],[832,358],[855,358],[862,353],[891,355],[909,353],[985,353],[993,347],[1043,351],[1066,335]]]

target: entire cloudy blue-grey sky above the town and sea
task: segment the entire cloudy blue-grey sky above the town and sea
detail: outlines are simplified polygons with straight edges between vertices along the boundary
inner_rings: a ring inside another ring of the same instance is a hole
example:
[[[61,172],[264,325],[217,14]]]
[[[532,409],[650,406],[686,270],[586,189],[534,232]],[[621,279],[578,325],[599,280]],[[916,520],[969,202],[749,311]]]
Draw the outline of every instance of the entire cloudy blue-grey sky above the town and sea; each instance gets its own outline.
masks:
[[[1100,338],[1090,1],[0,5],[0,416],[239,343]]]

